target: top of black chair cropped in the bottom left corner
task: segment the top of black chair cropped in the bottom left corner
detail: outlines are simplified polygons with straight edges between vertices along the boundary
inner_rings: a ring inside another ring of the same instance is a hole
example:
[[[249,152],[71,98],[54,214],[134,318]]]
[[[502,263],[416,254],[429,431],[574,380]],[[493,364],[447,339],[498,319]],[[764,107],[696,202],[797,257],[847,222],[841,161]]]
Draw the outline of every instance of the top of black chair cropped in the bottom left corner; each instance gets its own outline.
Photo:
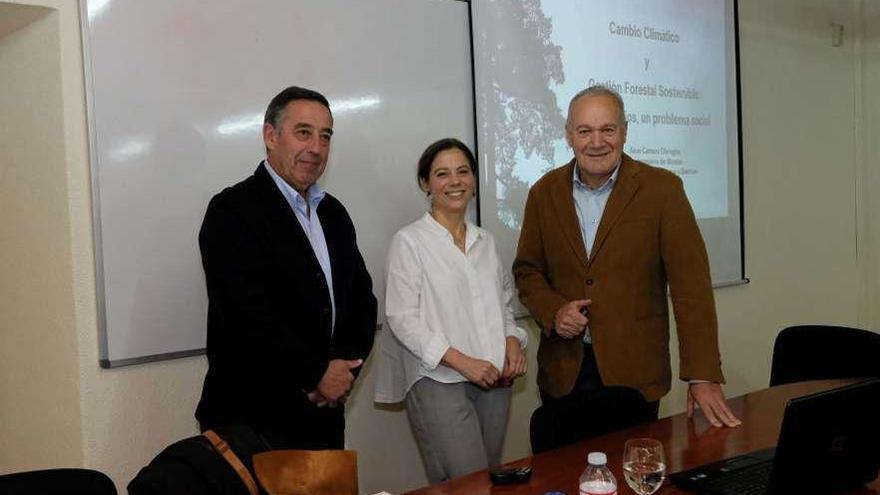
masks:
[[[91,469],[42,469],[0,476],[3,495],[117,495],[104,473]]]

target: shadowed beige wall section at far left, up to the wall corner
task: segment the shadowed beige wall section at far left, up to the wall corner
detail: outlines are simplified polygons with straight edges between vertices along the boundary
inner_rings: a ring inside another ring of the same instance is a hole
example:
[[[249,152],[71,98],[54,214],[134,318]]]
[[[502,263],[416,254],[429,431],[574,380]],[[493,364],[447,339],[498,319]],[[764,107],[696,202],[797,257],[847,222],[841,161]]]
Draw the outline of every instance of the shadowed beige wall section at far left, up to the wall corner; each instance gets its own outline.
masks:
[[[58,44],[0,4],[0,471],[82,462]]]

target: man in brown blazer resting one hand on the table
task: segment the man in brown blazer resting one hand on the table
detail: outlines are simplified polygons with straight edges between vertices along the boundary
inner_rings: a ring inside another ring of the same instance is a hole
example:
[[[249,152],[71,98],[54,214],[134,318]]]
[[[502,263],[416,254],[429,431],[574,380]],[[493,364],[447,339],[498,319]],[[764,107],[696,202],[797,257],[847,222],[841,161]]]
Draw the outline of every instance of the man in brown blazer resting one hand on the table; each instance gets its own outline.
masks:
[[[623,153],[626,131],[617,93],[581,91],[566,122],[574,159],[529,191],[513,271],[542,329],[543,402],[626,387],[656,418],[671,381],[668,285],[688,412],[696,405],[713,425],[736,426],[720,385],[715,302],[696,219],[676,175]]]

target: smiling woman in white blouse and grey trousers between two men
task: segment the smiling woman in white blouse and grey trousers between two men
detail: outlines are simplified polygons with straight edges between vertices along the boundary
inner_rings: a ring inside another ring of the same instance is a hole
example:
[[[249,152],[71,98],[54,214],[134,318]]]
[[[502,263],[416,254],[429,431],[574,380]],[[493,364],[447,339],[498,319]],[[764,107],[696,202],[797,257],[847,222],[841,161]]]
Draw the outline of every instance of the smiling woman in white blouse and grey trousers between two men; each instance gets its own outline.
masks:
[[[513,380],[526,373],[507,267],[469,223],[474,157],[442,139],[419,160],[430,212],[388,248],[377,402],[406,400],[428,478],[437,483],[501,462]]]

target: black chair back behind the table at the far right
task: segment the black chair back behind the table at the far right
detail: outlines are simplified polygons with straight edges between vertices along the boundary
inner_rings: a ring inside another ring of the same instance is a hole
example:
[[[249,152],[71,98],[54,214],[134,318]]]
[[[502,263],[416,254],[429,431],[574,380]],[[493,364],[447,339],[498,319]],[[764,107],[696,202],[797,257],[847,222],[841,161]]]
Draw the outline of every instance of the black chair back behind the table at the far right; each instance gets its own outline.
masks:
[[[770,386],[880,377],[880,334],[831,325],[788,327],[776,336]]]

